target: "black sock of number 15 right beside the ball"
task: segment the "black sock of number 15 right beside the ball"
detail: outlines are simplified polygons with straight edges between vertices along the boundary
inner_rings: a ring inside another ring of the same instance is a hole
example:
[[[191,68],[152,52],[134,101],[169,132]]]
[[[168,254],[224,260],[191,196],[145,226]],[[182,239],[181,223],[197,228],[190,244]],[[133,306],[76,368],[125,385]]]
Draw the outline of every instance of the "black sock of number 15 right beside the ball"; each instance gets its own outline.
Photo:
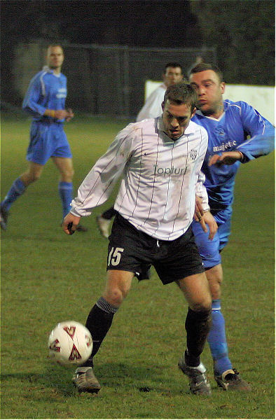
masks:
[[[118,308],[114,307],[109,302],[106,302],[104,297],[100,297],[96,304],[92,307],[88,315],[85,327],[90,330],[93,340],[93,349],[90,358],[85,362],[84,366],[93,366],[93,357],[99,350],[104,337],[106,336],[111,323],[113,315]]]

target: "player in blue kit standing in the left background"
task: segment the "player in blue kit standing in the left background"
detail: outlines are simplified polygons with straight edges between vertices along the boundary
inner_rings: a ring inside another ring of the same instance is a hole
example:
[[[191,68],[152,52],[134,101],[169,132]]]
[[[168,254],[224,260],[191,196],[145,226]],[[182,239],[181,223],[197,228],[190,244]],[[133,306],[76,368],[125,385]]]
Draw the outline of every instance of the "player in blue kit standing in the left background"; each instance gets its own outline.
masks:
[[[67,78],[61,73],[64,53],[60,45],[50,45],[47,50],[47,66],[32,78],[22,108],[32,115],[30,142],[27,149],[29,167],[13,182],[11,189],[1,202],[1,228],[6,229],[11,204],[25,193],[26,188],[38,180],[49,158],[60,172],[58,190],[62,200],[63,217],[70,210],[72,200],[74,168],[64,121],[74,117],[71,109],[65,109]],[[62,218],[63,218],[62,217]],[[62,221],[61,218],[61,221]],[[78,226],[79,231],[86,231]]]

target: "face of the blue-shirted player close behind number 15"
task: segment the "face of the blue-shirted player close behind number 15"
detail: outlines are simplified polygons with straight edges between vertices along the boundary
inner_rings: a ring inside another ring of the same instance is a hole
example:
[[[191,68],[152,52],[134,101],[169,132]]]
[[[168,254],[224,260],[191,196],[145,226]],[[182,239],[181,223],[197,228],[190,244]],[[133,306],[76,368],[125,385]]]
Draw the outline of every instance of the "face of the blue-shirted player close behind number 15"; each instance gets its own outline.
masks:
[[[200,71],[191,74],[190,83],[198,94],[198,109],[206,116],[220,116],[225,83],[219,81],[219,76],[213,70]]]

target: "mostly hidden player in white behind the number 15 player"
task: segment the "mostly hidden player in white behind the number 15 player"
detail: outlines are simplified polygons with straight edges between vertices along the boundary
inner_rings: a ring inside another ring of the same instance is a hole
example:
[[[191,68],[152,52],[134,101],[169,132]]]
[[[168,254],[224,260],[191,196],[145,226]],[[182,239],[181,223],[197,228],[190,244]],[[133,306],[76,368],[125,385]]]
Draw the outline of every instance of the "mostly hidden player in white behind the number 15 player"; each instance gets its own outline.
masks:
[[[170,62],[165,65],[163,71],[163,83],[158,86],[156,90],[146,99],[144,106],[139,111],[136,120],[142,121],[148,118],[156,118],[163,113],[162,102],[167,87],[180,83],[183,81],[183,69],[181,64],[177,62]],[[109,237],[109,228],[113,217],[116,215],[114,207],[105,210],[100,216],[97,216],[97,225],[99,232],[105,238]]]

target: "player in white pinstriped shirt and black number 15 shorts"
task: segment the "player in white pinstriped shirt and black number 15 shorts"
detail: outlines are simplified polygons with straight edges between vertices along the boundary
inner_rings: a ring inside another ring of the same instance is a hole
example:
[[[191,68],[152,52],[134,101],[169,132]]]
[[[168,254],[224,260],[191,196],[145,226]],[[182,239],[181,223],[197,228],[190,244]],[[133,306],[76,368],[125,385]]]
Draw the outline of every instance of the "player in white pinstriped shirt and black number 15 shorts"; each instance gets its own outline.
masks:
[[[205,177],[200,172],[208,136],[203,127],[191,122],[196,100],[190,85],[168,87],[163,115],[127,125],[118,133],[84,179],[64,218],[63,230],[69,235],[82,216],[89,216],[108,199],[123,175],[109,237],[106,288],[85,324],[93,337],[92,355],[74,374],[78,391],[97,393],[101,388],[93,372],[93,357],[133,277],[153,265],[163,284],[177,283],[188,301],[187,346],[179,368],[188,376],[192,393],[211,392],[200,362],[211,323],[211,295],[191,230],[195,194],[202,200],[202,211],[196,211],[198,220],[209,211]],[[212,238],[216,223],[209,228]]]

